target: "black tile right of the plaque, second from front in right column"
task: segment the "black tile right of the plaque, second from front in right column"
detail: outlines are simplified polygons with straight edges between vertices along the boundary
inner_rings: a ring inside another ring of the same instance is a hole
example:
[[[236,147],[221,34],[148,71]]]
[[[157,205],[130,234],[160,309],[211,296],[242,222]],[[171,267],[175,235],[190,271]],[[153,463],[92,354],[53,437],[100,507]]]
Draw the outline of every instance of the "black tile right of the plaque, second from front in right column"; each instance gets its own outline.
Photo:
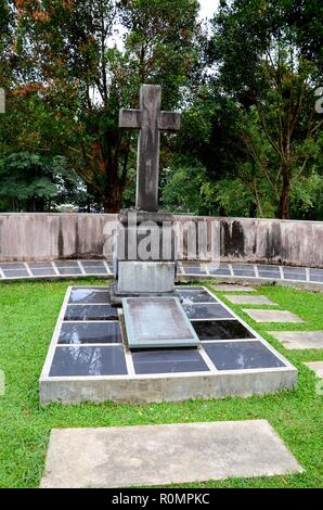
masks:
[[[198,320],[192,326],[199,340],[255,339],[238,320]]]

